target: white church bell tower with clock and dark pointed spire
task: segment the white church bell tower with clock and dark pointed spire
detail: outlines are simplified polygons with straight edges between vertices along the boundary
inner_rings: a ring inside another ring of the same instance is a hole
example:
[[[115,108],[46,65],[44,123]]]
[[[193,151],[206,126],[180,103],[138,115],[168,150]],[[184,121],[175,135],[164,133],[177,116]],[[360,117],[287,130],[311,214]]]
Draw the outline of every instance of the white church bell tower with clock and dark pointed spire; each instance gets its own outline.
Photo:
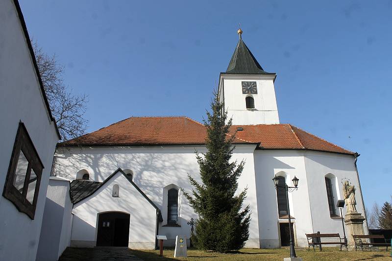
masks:
[[[233,125],[278,124],[274,81],[276,73],[266,72],[242,40],[219,78],[219,99],[224,102]]]

